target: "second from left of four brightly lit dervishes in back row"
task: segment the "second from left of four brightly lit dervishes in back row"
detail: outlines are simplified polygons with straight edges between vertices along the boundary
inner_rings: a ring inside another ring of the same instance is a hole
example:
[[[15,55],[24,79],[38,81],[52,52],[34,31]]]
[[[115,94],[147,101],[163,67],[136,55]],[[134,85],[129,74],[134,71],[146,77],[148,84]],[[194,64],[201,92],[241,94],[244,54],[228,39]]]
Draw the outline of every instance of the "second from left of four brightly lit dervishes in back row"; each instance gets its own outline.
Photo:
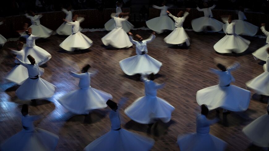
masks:
[[[101,40],[104,45],[111,45],[115,48],[129,48],[133,44],[130,42],[128,35],[123,30],[123,22],[129,18],[129,13],[120,13],[118,17],[111,14],[115,21],[115,28],[106,34]]]

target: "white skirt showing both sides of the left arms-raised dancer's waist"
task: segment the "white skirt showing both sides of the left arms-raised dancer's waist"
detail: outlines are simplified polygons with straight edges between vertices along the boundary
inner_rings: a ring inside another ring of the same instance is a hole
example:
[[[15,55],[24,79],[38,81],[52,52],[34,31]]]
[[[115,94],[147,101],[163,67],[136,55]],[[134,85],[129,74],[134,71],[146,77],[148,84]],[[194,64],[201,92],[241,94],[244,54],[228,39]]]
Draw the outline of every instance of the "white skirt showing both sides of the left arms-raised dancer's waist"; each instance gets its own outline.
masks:
[[[42,76],[44,69],[39,67],[39,76]],[[6,80],[14,82],[18,85],[22,85],[23,82],[28,78],[28,70],[23,65],[16,65],[7,75]]]

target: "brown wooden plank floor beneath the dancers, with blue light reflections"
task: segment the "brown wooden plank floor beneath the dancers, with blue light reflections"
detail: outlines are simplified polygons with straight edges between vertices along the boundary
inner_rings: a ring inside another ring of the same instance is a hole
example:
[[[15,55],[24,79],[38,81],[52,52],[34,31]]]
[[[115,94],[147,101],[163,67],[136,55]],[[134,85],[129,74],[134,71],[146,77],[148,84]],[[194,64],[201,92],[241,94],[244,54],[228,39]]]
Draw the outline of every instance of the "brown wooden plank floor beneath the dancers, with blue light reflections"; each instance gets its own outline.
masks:
[[[146,39],[151,31],[132,31]],[[144,95],[143,82],[139,76],[127,76],[119,66],[119,61],[135,55],[135,46],[128,49],[114,49],[102,44],[101,38],[108,33],[87,32],[84,33],[94,41],[92,47],[87,50],[68,53],[59,47],[66,36],[51,36],[47,39],[36,41],[36,45],[47,50],[52,59],[43,68],[43,79],[54,84],[55,94],[47,99],[38,101],[37,106],[30,106],[30,115],[44,115],[42,120],[35,122],[36,127],[48,130],[60,137],[56,151],[81,151],[89,143],[104,135],[110,130],[108,117],[109,109],[93,111],[89,116],[74,115],[63,108],[57,99],[71,90],[78,89],[79,79],[69,75],[69,71],[79,72],[85,64],[90,64],[99,73],[91,79],[91,86],[113,95],[113,100],[127,96],[129,101],[120,111],[123,116],[122,127],[129,131],[152,137],[155,144],[152,151],[173,150],[178,151],[177,136],[186,132],[195,132],[195,117],[199,105],[196,102],[196,91],[208,86],[218,84],[216,75],[210,73],[208,68],[216,68],[217,63],[231,65],[238,61],[241,68],[233,72],[237,80],[236,86],[245,88],[245,83],[263,73],[263,68],[255,61],[251,52],[265,44],[265,39],[244,37],[251,41],[249,49],[244,54],[224,56],[217,54],[213,45],[224,34],[209,33],[206,35],[187,31],[191,38],[190,48],[179,49],[176,46],[164,44],[164,37],[169,33],[156,35],[156,39],[148,44],[148,55],[161,61],[163,66],[156,75],[156,82],[166,82],[166,86],[158,91],[158,97],[171,103],[176,109],[172,113],[172,120],[167,123],[157,123],[156,131],[147,134],[147,125],[137,124],[131,121],[123,112],[136,98]],[[0,142],[6,140],[22,129],[20,121],[20,109],[23,103],[15,95],[15,84],[7,82],[5,75],[15,66],[14,58],[6,48],[15,48],[15,42],[8,42],[0,50]],[[254,92],[252,91],[252,94]],[[227,150],[250,151],[260,150],[251,146],[251,142],[241,132],[242,128],[261,115],[267,113],[266,102],[253,96],[249,109],[245,112],[233,112],[227,116],[227,121],[222,121],[211,126],[210,133],[228,143]],[[79,100],[78,100],[79,103]],[[216,111],[211,111],[209,118],[213,118]],[[225,120],[225,118],[224,118]],[[225,124],[224,124],[225,123]],[[153,126],[154,127],[154,126]]]

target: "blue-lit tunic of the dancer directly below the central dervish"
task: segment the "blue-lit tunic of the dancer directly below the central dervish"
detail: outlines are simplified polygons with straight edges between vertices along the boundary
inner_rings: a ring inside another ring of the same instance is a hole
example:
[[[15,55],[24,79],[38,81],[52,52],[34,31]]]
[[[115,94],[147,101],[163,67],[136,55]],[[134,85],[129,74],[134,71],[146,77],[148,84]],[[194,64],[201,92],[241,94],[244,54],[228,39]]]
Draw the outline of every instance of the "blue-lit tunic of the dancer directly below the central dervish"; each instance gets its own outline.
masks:
[[[152,80],[147,79],[145,76],[142,76],[141,80],[145,84],[145,94],[147,97],[151,98],[156,97],[157,90],[164,87],[164,83],[163,84],[155,83]]]

